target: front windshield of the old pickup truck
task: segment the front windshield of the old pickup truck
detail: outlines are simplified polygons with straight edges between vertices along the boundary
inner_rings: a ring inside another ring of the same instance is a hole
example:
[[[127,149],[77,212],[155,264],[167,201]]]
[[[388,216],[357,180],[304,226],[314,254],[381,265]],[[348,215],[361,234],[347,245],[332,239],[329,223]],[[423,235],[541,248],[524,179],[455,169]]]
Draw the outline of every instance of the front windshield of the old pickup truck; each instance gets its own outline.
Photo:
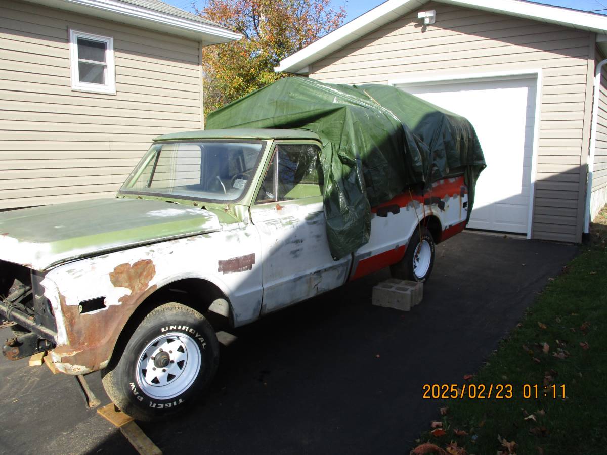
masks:
[[[253,179],[264,146],[254,140],[154,144],[120,192],[236,201]]]

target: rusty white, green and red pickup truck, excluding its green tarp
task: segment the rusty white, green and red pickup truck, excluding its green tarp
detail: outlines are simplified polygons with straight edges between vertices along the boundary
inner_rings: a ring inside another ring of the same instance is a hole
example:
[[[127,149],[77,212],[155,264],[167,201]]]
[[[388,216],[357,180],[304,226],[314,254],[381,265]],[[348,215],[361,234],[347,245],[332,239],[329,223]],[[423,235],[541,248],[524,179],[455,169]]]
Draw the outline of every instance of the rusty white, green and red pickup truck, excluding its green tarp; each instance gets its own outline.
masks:
[[[100,370],[118,408],[154,420],[214,377],[209,312],[242,326],[388,266],[426,281],[435,243],[466,224],[463,176],[372,207],[368,243],[336,259],[320,147],[307,130],[172,133],[115,198],[3,212],[0,321],[16,323],[4,355]]]

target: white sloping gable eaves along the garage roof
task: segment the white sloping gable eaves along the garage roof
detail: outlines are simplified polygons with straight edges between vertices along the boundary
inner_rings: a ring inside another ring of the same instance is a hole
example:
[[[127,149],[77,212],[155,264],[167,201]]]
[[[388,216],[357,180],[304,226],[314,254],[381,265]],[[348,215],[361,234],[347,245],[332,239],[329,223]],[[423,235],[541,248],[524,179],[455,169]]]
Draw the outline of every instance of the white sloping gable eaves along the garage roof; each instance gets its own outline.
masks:
[[[466,8],[476,8],[488,12],[515,15],[534,21],[563,25],[563,27],[588,30],[602,35],[607,34],[607,16],[560,8],[552,5],[535,4],[520,0],[439,0]],[[362,38],[382,25],[395,21],[399,17],[422,7],[427,0],[388,0],[356,19],[342,25],[339,29],[314,41],[293,55],[280,61],[276,72],[302,73],[307,66],[341,49],[356,39]]]

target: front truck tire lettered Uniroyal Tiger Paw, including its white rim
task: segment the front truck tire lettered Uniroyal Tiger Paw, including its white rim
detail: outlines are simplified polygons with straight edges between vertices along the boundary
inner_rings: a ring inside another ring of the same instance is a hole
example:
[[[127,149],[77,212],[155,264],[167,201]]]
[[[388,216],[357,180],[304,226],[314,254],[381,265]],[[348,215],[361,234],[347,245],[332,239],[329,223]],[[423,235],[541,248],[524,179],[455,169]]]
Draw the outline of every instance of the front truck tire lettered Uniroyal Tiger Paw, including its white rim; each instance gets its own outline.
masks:
[[[218,364],[219,343],[206,318],[180,303],[165,303],[141,321],[101,377],[107,395],[121,411],[151,421],[193,405],[211,383]],[[148,373],[149,369],[154,371]]]

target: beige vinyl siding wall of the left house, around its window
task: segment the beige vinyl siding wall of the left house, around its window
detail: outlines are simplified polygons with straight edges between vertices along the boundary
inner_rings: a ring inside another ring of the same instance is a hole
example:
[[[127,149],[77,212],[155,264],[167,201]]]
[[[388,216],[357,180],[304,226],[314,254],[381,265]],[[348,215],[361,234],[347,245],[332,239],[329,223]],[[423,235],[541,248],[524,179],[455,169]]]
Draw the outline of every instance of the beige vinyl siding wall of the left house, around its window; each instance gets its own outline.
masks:
[[[116,94],[71,88],[69,29],[114,39]],[[0,209],[113,197],[157,135],[200,129],[195,41],[0,5]]]

